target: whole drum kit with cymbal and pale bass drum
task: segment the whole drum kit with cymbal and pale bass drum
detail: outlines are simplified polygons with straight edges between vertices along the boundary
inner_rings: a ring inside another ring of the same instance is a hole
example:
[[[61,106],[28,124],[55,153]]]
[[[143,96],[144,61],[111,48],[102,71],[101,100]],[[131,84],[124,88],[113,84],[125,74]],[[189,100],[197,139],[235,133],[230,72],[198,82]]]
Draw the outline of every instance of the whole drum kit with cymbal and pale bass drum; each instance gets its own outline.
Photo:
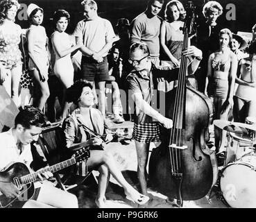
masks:
[[[227,131],[227,149],[217,181],[218,196],[228,207],[256,207],[256,117],[246,123],[214,120]]]

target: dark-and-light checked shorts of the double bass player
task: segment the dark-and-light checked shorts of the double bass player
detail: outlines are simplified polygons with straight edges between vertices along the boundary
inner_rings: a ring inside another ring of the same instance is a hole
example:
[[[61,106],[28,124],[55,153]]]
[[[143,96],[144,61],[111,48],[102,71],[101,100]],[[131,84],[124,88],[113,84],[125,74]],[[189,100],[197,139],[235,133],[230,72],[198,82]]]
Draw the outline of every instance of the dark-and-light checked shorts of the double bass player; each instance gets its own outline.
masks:
[[[159,123],[134,123],[133,137],[137,142],[161,142]]]

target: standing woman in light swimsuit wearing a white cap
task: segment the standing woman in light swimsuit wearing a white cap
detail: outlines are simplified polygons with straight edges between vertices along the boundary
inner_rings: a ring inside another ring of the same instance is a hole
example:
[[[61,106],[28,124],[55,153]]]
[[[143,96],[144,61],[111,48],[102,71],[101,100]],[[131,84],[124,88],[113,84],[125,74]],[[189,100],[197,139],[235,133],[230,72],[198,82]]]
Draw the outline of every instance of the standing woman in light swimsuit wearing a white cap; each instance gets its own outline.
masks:
[[[48,37],[43,26],[44,10],[31,3],[27,9],[28,19],[31,25],[28,28],[26,37],[28,40],[28,69],[32,71],[35,82],[40,89],[38,99],[33,101],[35,107],[44,109],[44,105],[49,97],[49,85],[47,83],[49,74],[49,49]]]

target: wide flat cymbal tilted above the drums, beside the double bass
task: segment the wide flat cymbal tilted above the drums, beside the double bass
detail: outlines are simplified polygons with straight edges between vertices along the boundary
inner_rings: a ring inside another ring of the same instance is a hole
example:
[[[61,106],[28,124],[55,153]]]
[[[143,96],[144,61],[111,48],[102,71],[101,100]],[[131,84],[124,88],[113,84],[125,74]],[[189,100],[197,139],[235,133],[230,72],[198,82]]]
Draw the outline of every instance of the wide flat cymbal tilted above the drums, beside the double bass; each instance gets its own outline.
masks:
[[[221,128],[222,130],[227,130],[232,133],[248,134],[248,130],[256,131],[255,124],[246,124],[239,122],[231,122],[221,119],[214,120],[214,126]]]

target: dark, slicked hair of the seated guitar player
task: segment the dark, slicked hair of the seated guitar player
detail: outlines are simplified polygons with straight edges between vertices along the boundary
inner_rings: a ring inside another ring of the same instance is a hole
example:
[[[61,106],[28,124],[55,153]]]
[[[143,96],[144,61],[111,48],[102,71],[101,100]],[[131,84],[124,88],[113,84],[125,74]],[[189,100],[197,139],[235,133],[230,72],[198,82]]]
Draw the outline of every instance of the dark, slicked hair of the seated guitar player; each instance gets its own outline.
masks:
[[[39,108],[27,105],[15,117],[15,127],[17,124],[21,124],[26,129],[30,129],[31,126],[44,127],[46,121],[46,116]]]

